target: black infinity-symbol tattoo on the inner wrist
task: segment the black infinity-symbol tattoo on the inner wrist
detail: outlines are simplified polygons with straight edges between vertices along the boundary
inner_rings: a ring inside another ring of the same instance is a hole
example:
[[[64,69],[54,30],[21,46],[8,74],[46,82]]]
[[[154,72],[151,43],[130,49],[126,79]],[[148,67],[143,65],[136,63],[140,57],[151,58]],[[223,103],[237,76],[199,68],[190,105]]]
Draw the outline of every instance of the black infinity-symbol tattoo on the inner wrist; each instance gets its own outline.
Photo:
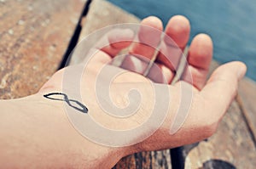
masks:
[[[53,96],[53,95],[62,95],[64,98],[63,99],[56,99],[56,98],[49,97],[49,96]],[[58,101],[65,101],[69,106],[73,107],[73,109],[75,109],[75,110],[79,110],[82,113],[87,113],[88,112],[88,109],[87,109],[87,107],[84,104],[81,104],[77,100],[68,99],[67,94],[65,94],[65,93],[49,93],[49,94],[44,94],[44,98],[58,100]],[[78,104],[80,108],[74,106],[70,102]]]

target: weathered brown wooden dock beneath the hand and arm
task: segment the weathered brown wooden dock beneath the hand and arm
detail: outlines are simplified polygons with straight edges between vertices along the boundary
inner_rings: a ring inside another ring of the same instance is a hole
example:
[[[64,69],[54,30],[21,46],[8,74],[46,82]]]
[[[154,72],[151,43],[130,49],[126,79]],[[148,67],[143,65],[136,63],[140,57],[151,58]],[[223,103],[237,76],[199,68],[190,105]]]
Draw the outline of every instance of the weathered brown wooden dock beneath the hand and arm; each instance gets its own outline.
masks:
[[[104,0],[3,0],[0,19],[0,99],[36,93],[58,69],[63,57],[67,58],[74,45],[91,32],[107,25],[139,22]],[[70,64],[80,60],[73,57]],[[211,71],[217,66],[212,61]],[[253,169],[255,100],[256,84],[245,78],[211,138],[178,149],[130,155],[114,168]]]

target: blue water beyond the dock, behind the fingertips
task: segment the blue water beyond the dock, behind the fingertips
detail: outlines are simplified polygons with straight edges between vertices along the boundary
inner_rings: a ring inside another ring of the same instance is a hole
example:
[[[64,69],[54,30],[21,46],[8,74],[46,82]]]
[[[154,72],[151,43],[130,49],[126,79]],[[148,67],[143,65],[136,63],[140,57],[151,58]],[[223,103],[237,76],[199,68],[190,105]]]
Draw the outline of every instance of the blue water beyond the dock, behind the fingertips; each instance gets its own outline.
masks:
[[[241,60],[256,81],[256,3],[254,0],[108,0],[143,19],[158,16],[164,25],[172,15],[190,20],[191,37],[207,33],[220,63]],[[190,38],[191,41],[191,38]]]

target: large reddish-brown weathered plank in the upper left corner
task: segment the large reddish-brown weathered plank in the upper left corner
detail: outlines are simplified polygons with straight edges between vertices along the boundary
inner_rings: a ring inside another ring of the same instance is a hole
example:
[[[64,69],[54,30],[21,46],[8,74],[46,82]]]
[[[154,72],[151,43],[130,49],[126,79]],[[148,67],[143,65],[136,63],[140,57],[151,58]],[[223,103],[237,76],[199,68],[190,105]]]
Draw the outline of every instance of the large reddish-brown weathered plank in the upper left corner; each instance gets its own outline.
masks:
[[[0,98],[32,93],[60,64],[79,20],[81,0],[0,1]]]

